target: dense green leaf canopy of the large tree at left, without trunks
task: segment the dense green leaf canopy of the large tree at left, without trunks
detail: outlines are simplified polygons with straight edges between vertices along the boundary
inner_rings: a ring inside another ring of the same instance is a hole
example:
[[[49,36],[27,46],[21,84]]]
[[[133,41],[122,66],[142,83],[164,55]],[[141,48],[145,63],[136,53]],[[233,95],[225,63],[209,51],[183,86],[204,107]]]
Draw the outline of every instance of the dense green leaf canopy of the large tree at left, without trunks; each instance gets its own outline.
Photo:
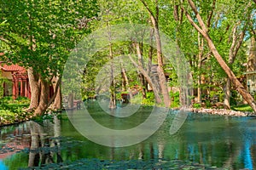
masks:
[[[89,29],[78,20],[96,16],[96,1],[1,1],[1,36],[12,45],[13,63],[32,66],[43,77],[60,74],[75,43]],[[88,10],[89,9],[89,10]],[[60,62],[61,61],[61,62]]]

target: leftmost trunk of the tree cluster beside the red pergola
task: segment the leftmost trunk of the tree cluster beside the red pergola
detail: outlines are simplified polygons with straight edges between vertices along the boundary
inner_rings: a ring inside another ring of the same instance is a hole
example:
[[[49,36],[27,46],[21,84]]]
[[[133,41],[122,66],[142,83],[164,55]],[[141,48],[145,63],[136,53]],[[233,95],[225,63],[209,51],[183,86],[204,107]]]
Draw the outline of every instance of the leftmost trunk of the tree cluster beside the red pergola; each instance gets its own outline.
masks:
[[[38,74],[36,74],[32,67],[27,69],[27,75],[29,79],[29,86],[31,89],[31,100],[28,111],[32,111],[38,108],[39,99],[39,84],[38,84]]]

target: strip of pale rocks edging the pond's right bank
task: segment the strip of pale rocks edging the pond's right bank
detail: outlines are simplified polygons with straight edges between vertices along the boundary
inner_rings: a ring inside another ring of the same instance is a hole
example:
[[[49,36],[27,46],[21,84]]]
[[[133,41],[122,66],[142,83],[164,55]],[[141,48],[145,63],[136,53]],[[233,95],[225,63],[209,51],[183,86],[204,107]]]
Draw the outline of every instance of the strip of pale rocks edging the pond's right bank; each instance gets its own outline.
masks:
[[[226,109],[192,108],[191,111],[194,113],[207,113],[211,115],[221,115],[221,116],[256,116],[256,115],[253,115],[253,112],[250,112],[250,111],[232,111],[232,110],[226,110]]]

